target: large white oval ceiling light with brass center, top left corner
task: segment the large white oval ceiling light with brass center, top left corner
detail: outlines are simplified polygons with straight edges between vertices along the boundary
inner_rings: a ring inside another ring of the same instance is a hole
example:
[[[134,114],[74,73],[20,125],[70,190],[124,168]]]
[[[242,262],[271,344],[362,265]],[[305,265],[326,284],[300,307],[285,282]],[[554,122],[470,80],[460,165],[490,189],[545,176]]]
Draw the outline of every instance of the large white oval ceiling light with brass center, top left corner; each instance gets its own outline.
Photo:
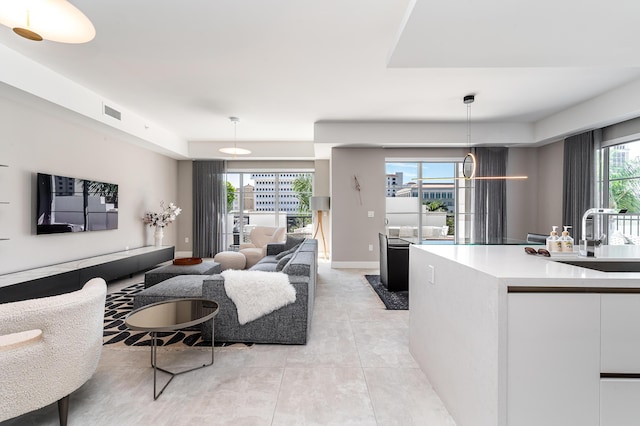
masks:
[[[29,40],[86,43],[96,29],[66,0],[2,0],[0,23]]]

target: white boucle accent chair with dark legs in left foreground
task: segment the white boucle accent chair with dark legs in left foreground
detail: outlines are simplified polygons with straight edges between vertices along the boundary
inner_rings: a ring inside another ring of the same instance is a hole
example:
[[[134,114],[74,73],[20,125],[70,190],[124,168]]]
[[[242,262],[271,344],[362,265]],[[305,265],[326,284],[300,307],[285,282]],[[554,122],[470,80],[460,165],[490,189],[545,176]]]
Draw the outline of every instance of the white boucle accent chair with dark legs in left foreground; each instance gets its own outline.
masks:
[[[106,293],[93,278],[71,293],[0,304],[0,421],[58,401],[66,425],[69,394],[100,361]]]

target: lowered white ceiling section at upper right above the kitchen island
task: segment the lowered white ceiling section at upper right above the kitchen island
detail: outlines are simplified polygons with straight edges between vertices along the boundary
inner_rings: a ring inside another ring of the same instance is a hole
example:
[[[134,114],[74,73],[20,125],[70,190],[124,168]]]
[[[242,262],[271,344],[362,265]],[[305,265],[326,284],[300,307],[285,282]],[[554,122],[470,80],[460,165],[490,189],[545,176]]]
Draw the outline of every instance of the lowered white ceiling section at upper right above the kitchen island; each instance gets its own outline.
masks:
[[[637,0],[418,0],[390,65],[640,66]]]

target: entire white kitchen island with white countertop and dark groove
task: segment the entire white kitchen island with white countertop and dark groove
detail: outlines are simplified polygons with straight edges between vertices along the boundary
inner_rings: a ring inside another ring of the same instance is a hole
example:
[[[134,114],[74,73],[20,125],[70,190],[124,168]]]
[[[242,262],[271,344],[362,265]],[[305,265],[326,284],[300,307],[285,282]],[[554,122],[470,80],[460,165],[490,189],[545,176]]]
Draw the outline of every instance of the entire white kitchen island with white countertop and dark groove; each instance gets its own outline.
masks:
[[[459,426],[640,424],[640,273],[554,260],[411,246],[409,348]]]

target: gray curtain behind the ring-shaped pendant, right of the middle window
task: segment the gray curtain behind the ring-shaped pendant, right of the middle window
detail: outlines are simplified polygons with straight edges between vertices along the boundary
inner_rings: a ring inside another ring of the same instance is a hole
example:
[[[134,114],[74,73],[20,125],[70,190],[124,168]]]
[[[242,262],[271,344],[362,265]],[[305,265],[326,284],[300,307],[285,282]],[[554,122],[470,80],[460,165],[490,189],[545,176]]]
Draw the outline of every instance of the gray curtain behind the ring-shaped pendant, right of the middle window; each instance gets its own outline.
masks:
[[[476,176],[506,176],[507,148],[474,148]],[[474,180],[474,244],[502,244],[507,236],[504,179]]]

